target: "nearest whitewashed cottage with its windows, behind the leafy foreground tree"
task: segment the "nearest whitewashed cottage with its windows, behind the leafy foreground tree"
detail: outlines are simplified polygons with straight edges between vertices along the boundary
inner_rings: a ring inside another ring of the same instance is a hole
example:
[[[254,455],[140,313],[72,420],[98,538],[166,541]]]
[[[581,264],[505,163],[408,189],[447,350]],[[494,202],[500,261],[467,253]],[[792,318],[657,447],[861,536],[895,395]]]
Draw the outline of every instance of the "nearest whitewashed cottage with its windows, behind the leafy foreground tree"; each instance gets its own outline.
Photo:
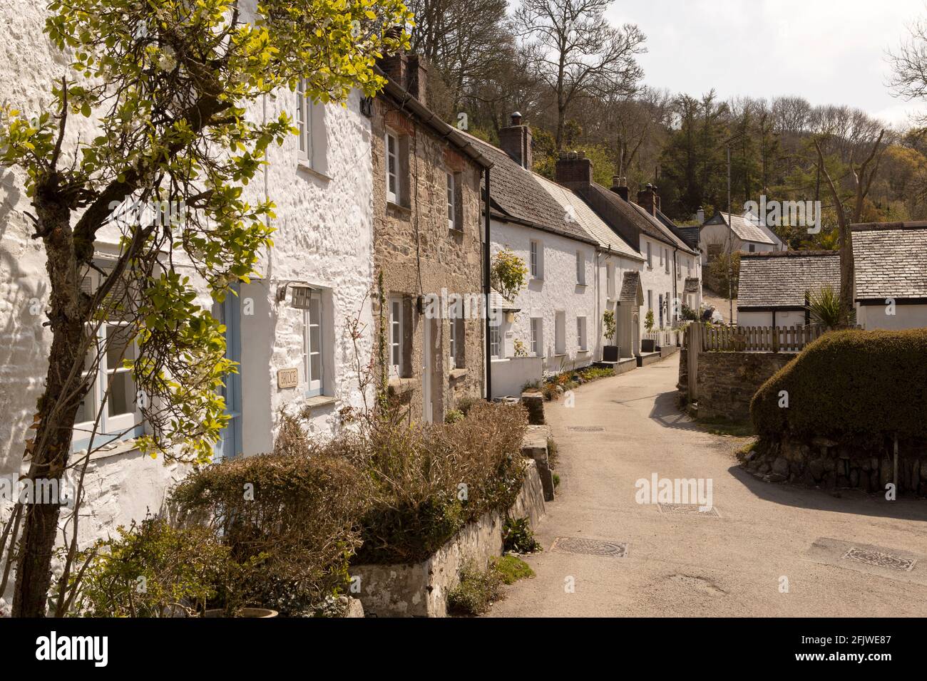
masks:
[[[254,6],[253,0],[242,4],[242,11]],[[46,16],[44,6],[14,0],[0,22],[0,40],[8,48],[0,53],[0,72],[6,76],[0,101],[27,113],[44,110],[47,93],[67,63],[44,36]],[[245,188],[249,197],[269,195],[276,204],[275,246],[261,259],[260,277],[241,285],[239,296],[213,307],[228,329],[229,356],[240,361],[240,373],[228,381],[233,421],[219,455],[267,451],[282,409],[301,412],[307,428],[324,435],[336,431],[338,410],[362,402],[349,336],[350,322],[358,319],[366,332],[360,343],[363,365],[373,329],[373,177],[371,125],[361,109],[357,92],[347,107],[340,107],[313,106],[285,90],[249,111],[261,120],[287,110],[300,134],[282,147],[272,145],[263,176],[259,173]],[[78,133],[82,139],[95,134],[92,119],[71,117],[69,128],[64,148],[70,154]],[[0,422],[0,476],[15,479],[42,392],[51,334],[42,325],[44,317],[32,311],[47,301],[48,284],[44,250],[30,238],[32,224],[25,212],[32,208],[23,178],[18,170],[5,170],[0,183],[0,410],[6,415]],[[114,236],[97,241],[101,264],[115,246]],[[294,304],[294,291],[304,302]],[[198,303],[213,306],[205,288]],[[112,442],[92,454],[88,467],[82,542],[159,511],[168,486],[184,473],[183,466],[165,466],[133,447],[133,436],[144,432],[146,423],[136,410],[131,385],[124,395],[105,410],[102,435]],[[81,437],[75,435],[75,447],[85,444]],[[8,500],[0,500],[0,523],[8,510]]]

